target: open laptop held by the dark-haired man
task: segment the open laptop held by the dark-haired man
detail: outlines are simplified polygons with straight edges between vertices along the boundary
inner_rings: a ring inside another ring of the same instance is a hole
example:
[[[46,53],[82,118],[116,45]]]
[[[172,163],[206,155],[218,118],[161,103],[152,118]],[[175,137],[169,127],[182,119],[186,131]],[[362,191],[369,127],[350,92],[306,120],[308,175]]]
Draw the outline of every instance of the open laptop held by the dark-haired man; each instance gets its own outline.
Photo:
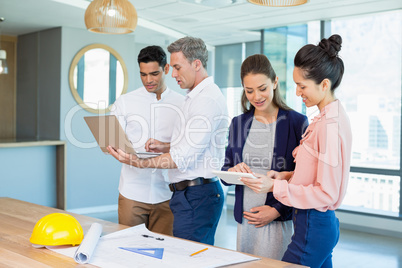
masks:
[[[140,158],[155,157],[161,153],[136,152],[115,115],[85,116],[85,122],[102,152],[109,154],[107,146],[135,154]]]

